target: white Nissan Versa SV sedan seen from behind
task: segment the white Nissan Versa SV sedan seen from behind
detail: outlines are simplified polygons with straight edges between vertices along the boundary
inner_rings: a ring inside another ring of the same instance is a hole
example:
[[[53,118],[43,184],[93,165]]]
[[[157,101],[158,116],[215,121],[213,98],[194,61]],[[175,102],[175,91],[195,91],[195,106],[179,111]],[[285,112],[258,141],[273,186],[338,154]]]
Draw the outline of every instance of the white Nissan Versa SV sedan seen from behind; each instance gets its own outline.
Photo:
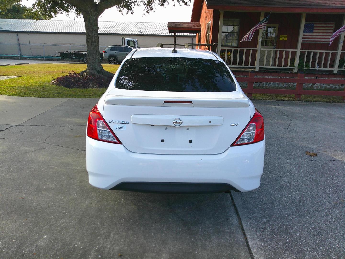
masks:
[[[167,193],[258,188],[262,115],[218,55],[171,50],[132,50],[92,108],[90,184]]]

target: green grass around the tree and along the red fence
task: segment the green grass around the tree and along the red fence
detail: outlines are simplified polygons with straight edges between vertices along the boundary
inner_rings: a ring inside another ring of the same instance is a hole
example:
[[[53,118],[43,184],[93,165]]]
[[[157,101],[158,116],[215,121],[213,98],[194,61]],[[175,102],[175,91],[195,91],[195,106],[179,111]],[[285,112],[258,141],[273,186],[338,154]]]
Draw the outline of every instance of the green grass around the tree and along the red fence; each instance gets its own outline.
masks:
[[[115,73],[119,65],[102,65],[106,70]],[[32,64],[0,67],[1,76],[20,76],[18,78],[0,80],[0,94],[27,97],[76,97],[99,98],[103,89],[69,89],[52,85],[53,78],[67,75],[69,71],[80,72],[86,69],[85,64]],[[279,88],[281,89],[281,88]],[[256,100],[294,101],[294,95],[253,94]],[[342,103],[340,96],[302,95],[306,102]]]

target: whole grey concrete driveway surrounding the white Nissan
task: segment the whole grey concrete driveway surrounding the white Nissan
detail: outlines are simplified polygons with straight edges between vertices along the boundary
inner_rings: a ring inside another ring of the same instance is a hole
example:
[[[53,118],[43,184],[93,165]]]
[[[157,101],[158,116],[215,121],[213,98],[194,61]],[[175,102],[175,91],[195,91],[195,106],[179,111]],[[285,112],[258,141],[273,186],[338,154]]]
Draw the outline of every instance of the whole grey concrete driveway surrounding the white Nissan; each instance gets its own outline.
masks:
[[[173,195],[88,184],[96,102],[0,96],[1,259],[345,258],[345,104],[254,101],[260,188]]]

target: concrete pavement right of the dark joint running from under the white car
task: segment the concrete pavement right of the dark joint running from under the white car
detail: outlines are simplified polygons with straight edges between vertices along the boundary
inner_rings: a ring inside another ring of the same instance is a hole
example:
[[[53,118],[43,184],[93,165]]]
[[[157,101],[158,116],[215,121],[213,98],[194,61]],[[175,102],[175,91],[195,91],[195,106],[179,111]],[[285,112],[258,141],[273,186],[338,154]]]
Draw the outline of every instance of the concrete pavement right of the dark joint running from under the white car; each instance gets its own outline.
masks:
[[[345,258],[345,104],[254,104],[265,119],[262,183],[233,196],[255,258]]]

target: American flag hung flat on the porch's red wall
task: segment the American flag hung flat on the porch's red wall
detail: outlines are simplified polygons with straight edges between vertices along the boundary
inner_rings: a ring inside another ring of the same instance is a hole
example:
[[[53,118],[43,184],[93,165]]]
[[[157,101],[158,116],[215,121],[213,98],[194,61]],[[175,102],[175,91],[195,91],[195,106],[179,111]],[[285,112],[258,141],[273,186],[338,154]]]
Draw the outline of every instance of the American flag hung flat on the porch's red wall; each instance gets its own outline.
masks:
[[[306,22],[302,42],[329,42],[334,29],[334,22]]]

